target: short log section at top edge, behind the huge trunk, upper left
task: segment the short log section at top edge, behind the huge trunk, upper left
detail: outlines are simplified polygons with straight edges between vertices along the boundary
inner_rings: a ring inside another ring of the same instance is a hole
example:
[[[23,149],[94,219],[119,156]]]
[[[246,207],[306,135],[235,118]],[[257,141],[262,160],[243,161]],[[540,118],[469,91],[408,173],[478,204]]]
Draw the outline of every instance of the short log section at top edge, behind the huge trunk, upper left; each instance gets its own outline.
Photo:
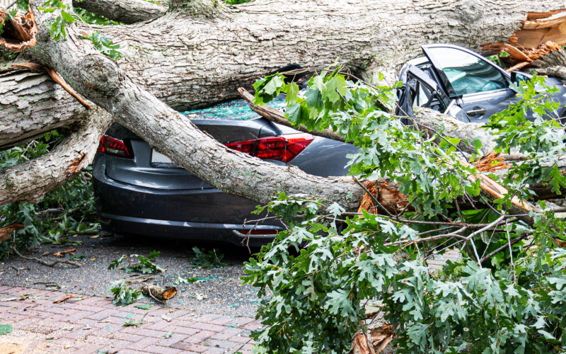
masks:
[[[74,0],[73,6],[126,24],[153,20],[167,12],[166,6],[144,0]]]

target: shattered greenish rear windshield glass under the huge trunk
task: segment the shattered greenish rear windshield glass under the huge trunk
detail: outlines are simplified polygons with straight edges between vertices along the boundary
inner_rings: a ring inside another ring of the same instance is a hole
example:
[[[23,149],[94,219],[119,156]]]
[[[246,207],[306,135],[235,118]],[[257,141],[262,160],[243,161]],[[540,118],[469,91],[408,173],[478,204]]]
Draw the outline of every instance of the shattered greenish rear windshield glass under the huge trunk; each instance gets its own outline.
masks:
[[[281,95],[270,103],[273,108],[285,108],[285,96]],[[258,118],[258,113],[250,110],[250,104],[243,100],[233,100],[200,110],[186,110],[181,112],[190,119],[216,119],[216,120],[250,120]]]

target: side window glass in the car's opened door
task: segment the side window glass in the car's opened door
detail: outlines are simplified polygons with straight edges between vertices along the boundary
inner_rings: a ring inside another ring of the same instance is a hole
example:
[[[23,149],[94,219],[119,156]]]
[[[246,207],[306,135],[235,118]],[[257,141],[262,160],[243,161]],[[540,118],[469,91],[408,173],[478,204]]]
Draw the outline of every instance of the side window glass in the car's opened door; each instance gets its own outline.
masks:
[[[447,47],[428,50],[437,59],[441,66],[437,69],[446,74],[456,95],[507,89],[507,80],[502,72],[475,55]]]

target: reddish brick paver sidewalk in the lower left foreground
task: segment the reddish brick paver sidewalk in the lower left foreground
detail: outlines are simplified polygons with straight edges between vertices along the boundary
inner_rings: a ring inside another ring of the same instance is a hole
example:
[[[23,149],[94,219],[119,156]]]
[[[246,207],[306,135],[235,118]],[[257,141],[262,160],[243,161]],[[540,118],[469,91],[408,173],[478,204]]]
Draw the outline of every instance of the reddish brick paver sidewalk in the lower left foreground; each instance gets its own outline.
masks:
[[[65,295],[0,286],[0,324],[13,326],[12,333],[0,336],[0,353],[246,354],[253,348],[250,330],[261,326],[247,317],[203,316],[156,305],[117,307],[101,297],[75,295],[54,304]],[[138,328],[123,326],[144,314]]]

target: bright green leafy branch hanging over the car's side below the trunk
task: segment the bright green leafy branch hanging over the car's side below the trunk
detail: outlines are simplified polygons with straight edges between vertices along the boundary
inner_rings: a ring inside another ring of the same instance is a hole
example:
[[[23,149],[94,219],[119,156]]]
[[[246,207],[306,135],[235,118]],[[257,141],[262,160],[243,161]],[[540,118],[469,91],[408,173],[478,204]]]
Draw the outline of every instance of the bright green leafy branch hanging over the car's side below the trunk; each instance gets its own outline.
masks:
[[[280,74],[255,82],[255,104],[262,105],[287,93],[285,117],[308,130],[332,128],[359,147],[349,155],[350,173],[375,180],[389,176],[424,215],[446,214],[454,200],[480,193],[479,181],[462,178],[475,169],[463,166],[454,154],[457,140],[437,144],[422,130],[408,129],[389,113],[395,104],[394,88],[350,81],[330,67],[308,82],[299,95],[296,84],[284,84]]]

